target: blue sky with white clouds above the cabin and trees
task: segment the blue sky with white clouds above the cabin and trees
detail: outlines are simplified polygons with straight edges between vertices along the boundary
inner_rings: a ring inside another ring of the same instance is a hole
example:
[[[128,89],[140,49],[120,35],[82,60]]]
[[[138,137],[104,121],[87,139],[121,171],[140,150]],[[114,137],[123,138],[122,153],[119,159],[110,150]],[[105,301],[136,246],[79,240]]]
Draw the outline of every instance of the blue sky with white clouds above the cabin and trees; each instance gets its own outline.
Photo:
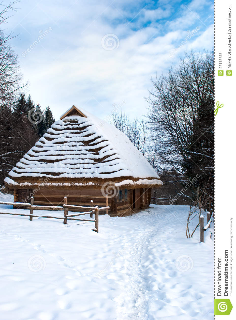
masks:
[[[73,104],[100,118],[118,105],[145,115],[151,77],[191,48],[213,48],[213,1],[23,0],[17,7],[5,28],[18,35],[12,44],[26,93],[56,119]]]

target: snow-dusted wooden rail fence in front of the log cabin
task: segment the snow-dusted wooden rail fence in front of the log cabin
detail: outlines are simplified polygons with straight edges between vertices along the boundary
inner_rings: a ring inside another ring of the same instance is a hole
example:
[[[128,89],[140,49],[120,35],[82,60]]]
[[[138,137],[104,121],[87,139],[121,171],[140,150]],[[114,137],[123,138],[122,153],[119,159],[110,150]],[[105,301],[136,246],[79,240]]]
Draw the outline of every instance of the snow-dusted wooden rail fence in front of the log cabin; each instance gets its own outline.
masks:
[[[53,218],[53,219],[63,219],[63,223],[67,224],[67,220],[76,220],[76,221],[89,221],[94,222],[95,231],[98,232],[98,214],[99,211],[106,210],[106,213],[108,214],[108,209],[110,208],[108,206],[108,196],[106,195],[106,207],[98,207],[93,206],[93,201],[90,201],[90,206],[80,206],[80,205],[71,205],[67,204],[67,197],[64,197],[64,204],[63,206],[46,206],[46,205],[34,205],[34,197],[30,198],[30,204],[25,202],[3,202],[1,201],[0,204],[7,204],[7,205],[19,205],[21,207],[26,207],[26,209],[29,209],[29,214],[23,214],[23,213],[10,213],[10,212],[0,212],[0,214],[11,214],[15,216],[26,216],[29,217],[29,220],[32,221],[33,217],[35,218]],[[68,214],[71,210],[80,210],[80,209],[88,209],[89,211],[83,212],[83,213],[75,213],[75,214]],[[37,216],[33,214],[34,210],[49,210],[49,211],[63,211],[64,210],[64,217],[53,217],[53,216]],[[90,218],[93,218],[94,213],[94,220],[88,220],[88,219],[76,219],[74,217],[82,216],[85,214],[90,214]]]

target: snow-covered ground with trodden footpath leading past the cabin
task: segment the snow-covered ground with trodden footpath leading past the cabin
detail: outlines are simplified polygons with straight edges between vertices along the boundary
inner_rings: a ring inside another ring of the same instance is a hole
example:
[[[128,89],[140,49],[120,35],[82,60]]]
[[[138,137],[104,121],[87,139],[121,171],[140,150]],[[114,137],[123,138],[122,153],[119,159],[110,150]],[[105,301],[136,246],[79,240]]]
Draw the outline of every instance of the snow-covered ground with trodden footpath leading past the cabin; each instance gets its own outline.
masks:
[[[186,206],[153,205],[99,216],[96,233],[93,222],[1,214],[0,318],[213,319],[213,243],[209,231],[204,244],[198,230],[186,239],[186,219]]]

